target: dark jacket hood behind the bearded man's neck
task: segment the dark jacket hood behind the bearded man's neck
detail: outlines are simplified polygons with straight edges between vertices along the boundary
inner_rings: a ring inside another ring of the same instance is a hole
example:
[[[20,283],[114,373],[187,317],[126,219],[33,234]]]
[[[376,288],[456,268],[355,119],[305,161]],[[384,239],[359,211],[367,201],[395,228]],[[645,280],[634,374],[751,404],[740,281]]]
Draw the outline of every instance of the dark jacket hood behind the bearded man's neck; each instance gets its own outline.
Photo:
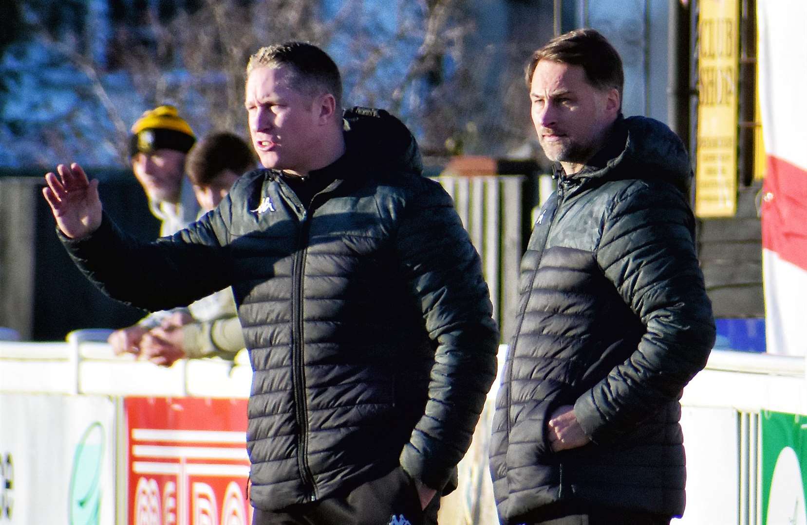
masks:
[[[604,180],[663,180],[684,194],[692,182],[692,167],[684,143],[666,124],[654,118],[618,118],[613,140],[580,172]]]

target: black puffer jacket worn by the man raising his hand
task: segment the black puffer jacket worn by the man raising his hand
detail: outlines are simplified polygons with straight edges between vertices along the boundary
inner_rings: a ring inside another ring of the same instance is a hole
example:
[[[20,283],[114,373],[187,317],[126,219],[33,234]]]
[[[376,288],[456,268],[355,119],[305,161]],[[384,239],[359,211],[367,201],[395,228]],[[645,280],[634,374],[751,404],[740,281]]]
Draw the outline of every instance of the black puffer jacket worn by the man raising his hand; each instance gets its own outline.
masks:
[[[108,221],[67,242],[111,296],[148,309],[232,284],[253,365],[253,506],[275,510],[396,465],[450,490],[495,376],[479,256],[385,112],[345,116],[346,154],[304,209],[278,172],[148,246]]]

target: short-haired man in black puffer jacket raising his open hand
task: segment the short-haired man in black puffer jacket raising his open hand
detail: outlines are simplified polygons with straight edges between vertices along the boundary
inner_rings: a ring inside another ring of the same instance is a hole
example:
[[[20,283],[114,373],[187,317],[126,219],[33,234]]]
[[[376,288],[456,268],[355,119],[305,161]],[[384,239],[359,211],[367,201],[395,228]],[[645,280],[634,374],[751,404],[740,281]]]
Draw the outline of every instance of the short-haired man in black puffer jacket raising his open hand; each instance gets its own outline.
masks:
[[[232,286],[253,366],[253,523],[436,523],[496,370],[479,255],[409,130],[342,113],[320,48],[259,50],[245,105],[266,169],[170,238],[119,232],[81,167],[48,173],[65,246],[144,308]]]

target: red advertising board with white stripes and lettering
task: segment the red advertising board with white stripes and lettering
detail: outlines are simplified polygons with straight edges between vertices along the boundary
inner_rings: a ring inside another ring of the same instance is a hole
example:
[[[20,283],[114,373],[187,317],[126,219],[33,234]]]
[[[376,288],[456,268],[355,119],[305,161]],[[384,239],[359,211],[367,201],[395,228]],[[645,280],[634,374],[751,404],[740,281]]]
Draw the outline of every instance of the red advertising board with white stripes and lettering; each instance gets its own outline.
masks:
[[[128,523],[249,525],[246,399],[124,399]]]

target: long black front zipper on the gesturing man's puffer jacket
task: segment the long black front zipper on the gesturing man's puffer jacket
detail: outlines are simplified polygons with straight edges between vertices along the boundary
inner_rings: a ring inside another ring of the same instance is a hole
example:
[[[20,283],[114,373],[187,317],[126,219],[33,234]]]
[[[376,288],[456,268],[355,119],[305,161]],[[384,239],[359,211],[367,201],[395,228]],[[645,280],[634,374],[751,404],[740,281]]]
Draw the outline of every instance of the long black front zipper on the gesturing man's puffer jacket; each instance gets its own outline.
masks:
[[[295,253],[294,268],[294,289],[291,297],[292,326],[291,338],[294,345],[291,349],[291,369],[294,374],[293,384],[295,392],[295,415],[299,434],[297,437],[297,467],[300,477],[306,489],[311,492],[307,496],[310,502],[316,501],[316,484],[308,466],[308,409],[305,394],[305,373],[303,358],[303,273],[305,270],[305,259],[307,254],[309,221],[308,214],[303,212],[303,219],[300,221],[299,250]]]

